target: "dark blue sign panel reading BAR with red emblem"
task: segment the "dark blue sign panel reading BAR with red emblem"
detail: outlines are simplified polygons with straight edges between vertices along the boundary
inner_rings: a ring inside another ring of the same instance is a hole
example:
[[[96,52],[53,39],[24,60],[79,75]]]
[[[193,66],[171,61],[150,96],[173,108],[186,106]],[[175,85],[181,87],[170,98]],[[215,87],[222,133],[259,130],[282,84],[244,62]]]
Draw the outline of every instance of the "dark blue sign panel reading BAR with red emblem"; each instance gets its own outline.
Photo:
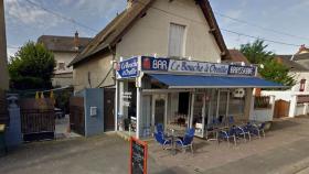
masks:
[[[169,70],[169,58],[156,58],[156,57],[141,57],[141,69],[151,72],[168,72]]]

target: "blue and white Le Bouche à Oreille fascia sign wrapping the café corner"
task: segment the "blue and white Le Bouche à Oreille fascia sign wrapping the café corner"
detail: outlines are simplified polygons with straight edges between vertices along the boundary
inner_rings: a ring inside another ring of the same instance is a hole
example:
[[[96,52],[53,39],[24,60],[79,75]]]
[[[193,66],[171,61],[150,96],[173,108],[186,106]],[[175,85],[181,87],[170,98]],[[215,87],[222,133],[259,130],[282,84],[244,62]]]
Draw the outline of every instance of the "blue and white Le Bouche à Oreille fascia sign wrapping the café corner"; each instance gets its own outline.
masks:
[[[141,70],[143,72],[164,72],[164,73],[185,73],[219,76],[255,76],[256,67],[228,65],[198,61],[183,61],[156,57],[134,57],[118,64],[117,72],[121,78],[137,77],[138,58],[140,58]]]

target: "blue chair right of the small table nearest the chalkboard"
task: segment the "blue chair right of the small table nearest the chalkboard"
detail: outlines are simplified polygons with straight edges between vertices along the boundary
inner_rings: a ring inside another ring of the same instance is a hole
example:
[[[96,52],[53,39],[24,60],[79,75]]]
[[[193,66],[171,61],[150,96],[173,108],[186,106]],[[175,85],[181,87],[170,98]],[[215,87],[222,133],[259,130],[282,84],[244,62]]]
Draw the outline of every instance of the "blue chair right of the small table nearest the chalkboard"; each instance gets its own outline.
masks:
[[[177,145],[179,145],[183,152],[185,152],[185,150],[188,148],[191,149],[191,153],[193,153],[193,139],[194,139],[194,132],[195,130],[193,128],[188,129],[185,131],[185,134],[182,139],[178,139],[175,141]]]

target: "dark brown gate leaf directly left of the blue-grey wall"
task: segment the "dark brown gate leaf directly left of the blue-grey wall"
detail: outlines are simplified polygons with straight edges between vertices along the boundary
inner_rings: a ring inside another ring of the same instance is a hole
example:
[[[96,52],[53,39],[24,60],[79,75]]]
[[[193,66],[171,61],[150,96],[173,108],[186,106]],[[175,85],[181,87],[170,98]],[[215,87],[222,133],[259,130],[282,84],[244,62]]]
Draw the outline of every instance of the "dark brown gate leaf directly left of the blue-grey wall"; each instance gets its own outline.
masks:
[[[83,97],[70,98],[70,127],[72,131],[85,135],[85,110]]]

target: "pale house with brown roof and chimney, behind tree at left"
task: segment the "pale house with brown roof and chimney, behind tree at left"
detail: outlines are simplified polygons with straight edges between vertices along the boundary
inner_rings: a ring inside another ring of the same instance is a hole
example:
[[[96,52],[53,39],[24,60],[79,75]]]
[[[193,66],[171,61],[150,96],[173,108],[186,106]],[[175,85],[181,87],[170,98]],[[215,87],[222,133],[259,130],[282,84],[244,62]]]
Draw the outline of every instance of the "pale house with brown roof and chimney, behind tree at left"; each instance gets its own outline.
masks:
[[[73,80],[73,68],[67,65],[90,42],[89,37],[42,35],[38,39],[49,51],[54,53],[56,67],[52,83],[54,87],[71,86]]]

